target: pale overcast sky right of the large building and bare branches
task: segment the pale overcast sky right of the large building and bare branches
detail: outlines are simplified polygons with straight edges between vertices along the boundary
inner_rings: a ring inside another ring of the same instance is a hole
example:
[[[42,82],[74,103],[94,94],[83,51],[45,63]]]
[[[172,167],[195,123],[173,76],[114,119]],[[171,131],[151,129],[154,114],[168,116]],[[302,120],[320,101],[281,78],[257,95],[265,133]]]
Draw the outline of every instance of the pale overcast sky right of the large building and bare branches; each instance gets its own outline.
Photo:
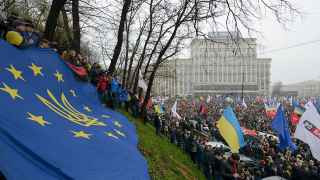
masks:
[[[297,4],[304,12],[302,18],[288,26],[288,30],[273,18],[258,23],[263,37],[257,37],[264,50],[320,40],[320,1],[303,0]],[[272,58],[271,80],[285,84],[320,79],[320,41],[300,47],[260,54]]]

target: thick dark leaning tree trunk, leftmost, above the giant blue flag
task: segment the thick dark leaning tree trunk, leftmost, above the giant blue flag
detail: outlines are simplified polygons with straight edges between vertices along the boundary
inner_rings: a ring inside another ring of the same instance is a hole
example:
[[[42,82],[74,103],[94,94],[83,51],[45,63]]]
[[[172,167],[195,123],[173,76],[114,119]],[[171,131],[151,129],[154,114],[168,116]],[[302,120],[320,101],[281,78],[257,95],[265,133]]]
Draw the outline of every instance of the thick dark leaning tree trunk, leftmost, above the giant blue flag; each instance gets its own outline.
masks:
[[[46,27],[44,30],[44,37],[49,41],[54,38],[54,32],[58,23],[58,18],[61,9],[67,0],[53,0],[50,8],[50,12],[47,18]]]

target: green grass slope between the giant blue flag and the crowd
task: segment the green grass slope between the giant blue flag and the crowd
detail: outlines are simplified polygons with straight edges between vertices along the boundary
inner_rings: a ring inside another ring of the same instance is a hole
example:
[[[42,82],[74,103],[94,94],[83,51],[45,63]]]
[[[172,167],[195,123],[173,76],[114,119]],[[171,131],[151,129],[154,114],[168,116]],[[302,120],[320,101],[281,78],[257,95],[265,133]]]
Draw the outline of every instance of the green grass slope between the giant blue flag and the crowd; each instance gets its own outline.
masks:
[[[144,125],[141,119],[133,118],[121,111],[132,121],[139,137],[139,149],[148,162],[149,174],[153,180],[205,180],[203,173],[189,156],[171,144],[168,138],[155,134],[155,128]]]

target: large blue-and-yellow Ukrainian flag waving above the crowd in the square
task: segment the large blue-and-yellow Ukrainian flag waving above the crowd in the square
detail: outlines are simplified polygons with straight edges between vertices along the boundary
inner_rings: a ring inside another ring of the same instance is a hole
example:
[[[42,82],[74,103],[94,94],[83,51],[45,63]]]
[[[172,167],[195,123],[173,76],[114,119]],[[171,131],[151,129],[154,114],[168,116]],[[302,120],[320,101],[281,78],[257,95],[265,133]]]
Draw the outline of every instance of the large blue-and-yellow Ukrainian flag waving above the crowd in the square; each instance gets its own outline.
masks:
[[[239,152],[239,149],[245,145],[245,142],[240,124],[230,106],[224,109],[217,127],[221,136],[230,146],[231,151]]]

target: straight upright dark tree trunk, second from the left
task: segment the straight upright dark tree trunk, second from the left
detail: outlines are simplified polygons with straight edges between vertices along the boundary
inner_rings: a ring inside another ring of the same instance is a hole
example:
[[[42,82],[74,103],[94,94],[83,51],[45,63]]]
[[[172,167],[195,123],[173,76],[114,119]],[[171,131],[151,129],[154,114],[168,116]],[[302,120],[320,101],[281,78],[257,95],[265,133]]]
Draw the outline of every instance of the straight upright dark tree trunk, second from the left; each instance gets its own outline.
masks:
[[[76,52],[80,52],[80,18],[79,18],[79,0],[72,0],[72,28],[73,28],[73,41],[72,48]]]

